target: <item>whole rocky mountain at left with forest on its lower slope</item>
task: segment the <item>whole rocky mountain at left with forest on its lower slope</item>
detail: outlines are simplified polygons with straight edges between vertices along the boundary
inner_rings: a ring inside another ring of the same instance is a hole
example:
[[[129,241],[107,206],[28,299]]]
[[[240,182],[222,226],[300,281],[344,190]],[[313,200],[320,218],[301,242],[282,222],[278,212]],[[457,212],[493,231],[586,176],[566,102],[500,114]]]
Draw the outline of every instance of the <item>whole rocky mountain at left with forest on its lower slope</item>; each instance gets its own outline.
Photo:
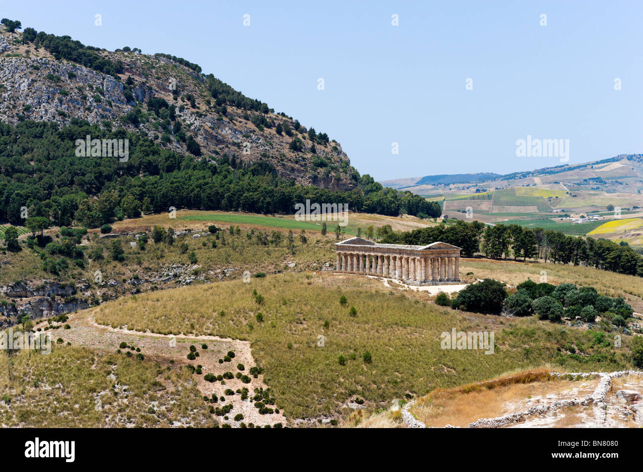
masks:
[[[359,175],[326,133],[197,64],[3,24],[0,220],[23,225],[26,209],[51,225],[98,227],[169,207],[293,213],[307,199],[440,215],[435,202]],[[127,156],[105,155],[106,142],[127,142]]]

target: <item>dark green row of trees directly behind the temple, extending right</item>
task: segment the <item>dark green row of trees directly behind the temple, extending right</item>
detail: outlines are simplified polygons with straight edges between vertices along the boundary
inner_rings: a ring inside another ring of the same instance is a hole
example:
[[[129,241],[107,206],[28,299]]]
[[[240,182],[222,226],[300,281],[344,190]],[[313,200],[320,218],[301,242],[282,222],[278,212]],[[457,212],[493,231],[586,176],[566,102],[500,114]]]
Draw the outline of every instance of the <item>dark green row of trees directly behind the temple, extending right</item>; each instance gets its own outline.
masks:
[[[532,259],[538,257],[559,264],[586,265],[643,276],[643,257],[627,244],[610,240],[568,236],[561,231],[524,228],[520,225],[459,221],[401,233],[386,232],[385,243],[426,245],[443,241],[462,248],[462,255],[480,253],[490,259]]]

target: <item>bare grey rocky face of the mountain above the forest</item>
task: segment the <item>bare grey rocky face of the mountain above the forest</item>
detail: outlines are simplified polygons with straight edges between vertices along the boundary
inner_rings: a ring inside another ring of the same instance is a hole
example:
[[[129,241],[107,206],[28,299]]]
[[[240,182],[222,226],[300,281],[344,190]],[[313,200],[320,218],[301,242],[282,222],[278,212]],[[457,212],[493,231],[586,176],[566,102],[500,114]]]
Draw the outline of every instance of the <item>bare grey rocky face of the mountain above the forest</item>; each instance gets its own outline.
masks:
[[[183,130],[201,146],[203,157],[196,159],[227,155],[242,165],[264,161],[275,166],[279,175],[298,184],[334,190],[356,186],[354,169],[339,143],[317,143],[312,152],[307,128],[294,130],[294,119],[274,112],[238,109],[230,103],[222,112],[205,86],[203,74],[173,60],[134,52],[98,51],[123,64],[122,74],[109,76],[68,60],[56,60],[44,48],[36,49],[20,41],[21,33],[0,33],[0,121],[15,125],[32,119],[66,125],[72,118],[86,119],[103,128],[124,127],[139,132],[174,152],[188,154],[186,144],[177,139],[173,129],[169,140],[159,139],[163,134],[159,126],[162,120],[149,113],[147,102],[150,98],[163,98],[176,106]],[[123,87],[129,78],[133,81],[129,86],[131,95],[127,94],[130,100]],[[174,96],[172,88],[181,92]],[[194,104],[190,103],[191,96]],[[137,126],[122,119],[135,107],[146,112]],[[257,116],[270,126],[255,126],[251,119]],[[292,136],[276,132],[276,125],[285,123],[293,128]],[[302,140],[302,151],[289,148],[294,138]]]

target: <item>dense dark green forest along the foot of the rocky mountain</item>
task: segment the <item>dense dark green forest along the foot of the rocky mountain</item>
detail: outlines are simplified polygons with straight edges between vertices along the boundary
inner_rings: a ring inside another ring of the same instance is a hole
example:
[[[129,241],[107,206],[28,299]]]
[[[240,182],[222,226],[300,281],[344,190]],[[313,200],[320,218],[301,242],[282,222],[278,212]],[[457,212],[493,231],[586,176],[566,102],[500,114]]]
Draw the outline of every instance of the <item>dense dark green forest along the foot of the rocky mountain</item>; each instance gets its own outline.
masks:
[[[76,141],[87,135],[127,139],[129,158],[78,157]],[[307,199],[388,215],[440,214],[434,202],[383,188],[368,175],[356,175],[358,186],[352,190],[332,191],[278,177],[267,162],[249,167],[237,162],[214,156],[195,161],[136,132],[102,129],[80,119],[62,128],[35,121],[0,124],[0,219],[22,225],[26,208],[28,216],[46,217],[53,225],[98,227],[169,207],[294,213],[294,204]]]

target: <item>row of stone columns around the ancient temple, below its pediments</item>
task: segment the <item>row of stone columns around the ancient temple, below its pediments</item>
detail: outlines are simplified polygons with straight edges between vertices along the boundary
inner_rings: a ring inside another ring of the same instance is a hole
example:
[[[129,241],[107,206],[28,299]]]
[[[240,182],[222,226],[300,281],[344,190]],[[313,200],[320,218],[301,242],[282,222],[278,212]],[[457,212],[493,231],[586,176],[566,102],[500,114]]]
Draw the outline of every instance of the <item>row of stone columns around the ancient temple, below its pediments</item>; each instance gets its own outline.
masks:
[[[460,258],[337,252],[336,270],[419,282],[459,281]]]

